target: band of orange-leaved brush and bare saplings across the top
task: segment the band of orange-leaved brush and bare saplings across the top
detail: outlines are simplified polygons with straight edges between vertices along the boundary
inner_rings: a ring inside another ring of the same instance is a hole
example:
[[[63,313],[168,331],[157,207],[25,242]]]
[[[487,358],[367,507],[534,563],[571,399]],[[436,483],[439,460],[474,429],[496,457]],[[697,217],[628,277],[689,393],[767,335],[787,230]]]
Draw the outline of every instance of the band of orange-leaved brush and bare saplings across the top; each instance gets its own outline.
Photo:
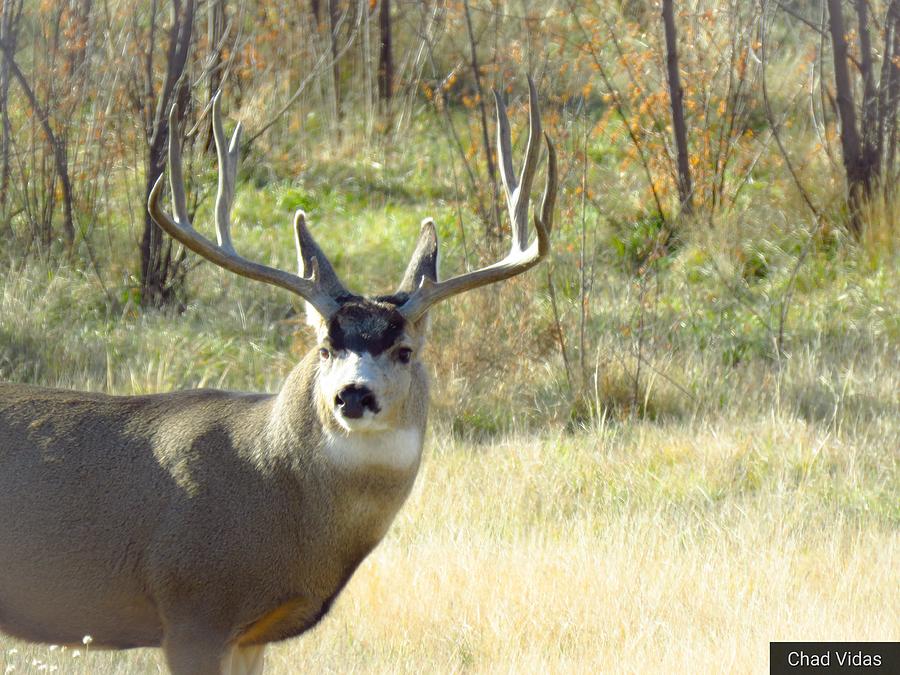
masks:
[[[863,135],[879,153],[863,197],[890,201],[898,174],[900,3],[828,4],[832,14],[847,10],[838,54],[846,52],[850,64],[846,81],[824,10],[674,3],[669,55],[677,51],[682,98],[673,101],[654,2],[523,9],[449,0],[382,11],[375,0],[6,0],[0,237],[20,251],[62,248],[94,259],[106,230],[124,227],[141,253],[126,265],[139,292],[152,295],[151,304],[179,301],[183,254],[161,243],[141,204],[162,170],[170,132],[163,109],[181,102],[174,131],[188,133],[191,156],[206,161],[207,104],[222,88],[231,116],[248,129],[248,164],[287,179],[310,152],[428,153],[414,145],[421,135],[413,132],[430,127],[448,160],[435,181],[456,186],[457,205],[477,214],[490,239],[505,227],[490,90],[523,114],[526,72],[538,81],[545,126],[568,167],[567,213],[577,211],[582,193],[595,204],[615,194],[604,207],[608,219],[622,227],[654,221],[668,240],[686,205],[696,222],[733,227],[752,203],[789,199],[805,220],[825,230],[849,225],[859,237],[864,207],[855,165],[846,160],[844,118],[855,106],[863,122],[878,120]],[[184,50],[183,68],[173,70]],[[675,112],[686,130],[681,166]],[[305,148],[296,142],[301,132]],[[761,184],[778,187],[761,194]]]

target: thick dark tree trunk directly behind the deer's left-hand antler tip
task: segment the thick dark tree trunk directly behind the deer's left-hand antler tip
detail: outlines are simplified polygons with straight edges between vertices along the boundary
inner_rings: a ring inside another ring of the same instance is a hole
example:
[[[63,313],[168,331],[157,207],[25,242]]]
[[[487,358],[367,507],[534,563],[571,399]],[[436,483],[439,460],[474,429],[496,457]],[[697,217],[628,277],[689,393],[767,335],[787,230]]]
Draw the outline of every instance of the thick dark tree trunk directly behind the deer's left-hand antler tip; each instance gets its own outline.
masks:
[[[145,101],[145,107],[153,110],[152,123],[147,137],[147,173],[145,184],[145,203],[156,179],[162,174],[166,162],[169,129],[168,115],[176,97],[182,92],[186,98],[187,89],[179,85],[179,80],[187,64],[188,50],[194,25],[194,0],[172,0],[172,26],[169,29],[169,43],[166,53],[166,74],[159,97]],[[156,16],[152,17],[156,20]],[[147,91],[153,91],[152,81],[152,45],[148,50]],[[184,110],[183,106],[179,107]],[[169,249],[171,244],[169,245]],[[171,267],[171,251],[164,245],[163,233],[144,209],[144,232],[141,237],[141,303],[149,307],[162,307],[171,302],[176,291],[173,282],[178,270]],[[177,265],[176,265],[177,267]]]

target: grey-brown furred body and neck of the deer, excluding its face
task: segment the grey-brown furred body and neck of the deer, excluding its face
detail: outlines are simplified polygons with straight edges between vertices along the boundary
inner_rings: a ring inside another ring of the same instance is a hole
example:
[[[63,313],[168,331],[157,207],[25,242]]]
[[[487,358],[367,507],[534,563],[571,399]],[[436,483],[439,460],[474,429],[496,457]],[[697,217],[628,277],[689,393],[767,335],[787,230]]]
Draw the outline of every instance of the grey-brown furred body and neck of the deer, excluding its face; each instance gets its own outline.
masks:
[[[0,384],[0,629],[162,645],[175,672],[219,672],[232,645],[314,625],[418,469],[328,461],[318,363],[277,395]],[[399,415],[424,432],[427,378],[409,367]]]

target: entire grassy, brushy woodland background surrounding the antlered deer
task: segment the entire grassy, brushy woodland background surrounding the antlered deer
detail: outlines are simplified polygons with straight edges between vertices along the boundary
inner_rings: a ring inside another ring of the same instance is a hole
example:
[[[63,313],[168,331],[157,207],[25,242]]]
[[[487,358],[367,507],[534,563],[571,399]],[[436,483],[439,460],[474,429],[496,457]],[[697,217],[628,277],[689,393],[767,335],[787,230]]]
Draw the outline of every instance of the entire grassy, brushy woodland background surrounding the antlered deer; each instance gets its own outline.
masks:
[[[0,378],[275,390],[301,308],[152,225],[168,135],[204,229],[221,89],[238,251],[292,270],[302,207],[390,292],[425,216],[445,276],[505,253],[491,90],[521,161],[528,73],[552,260],[432,312],[416,490],[273,670],[764,672],[769,640],[900,639],[900,0],[2,0]],[[89,652],[0,667],[161,663]]]

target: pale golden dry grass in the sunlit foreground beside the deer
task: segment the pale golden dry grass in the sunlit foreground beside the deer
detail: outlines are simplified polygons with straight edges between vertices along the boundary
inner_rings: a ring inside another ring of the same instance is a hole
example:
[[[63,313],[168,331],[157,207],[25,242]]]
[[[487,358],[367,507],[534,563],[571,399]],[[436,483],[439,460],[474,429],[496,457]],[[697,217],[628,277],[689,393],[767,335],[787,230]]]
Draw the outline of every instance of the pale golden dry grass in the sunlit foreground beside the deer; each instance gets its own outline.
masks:
[[[770,640],[900,639],[897,457],[871,439],[775,416],[428,447],[386,541],[267,672],[766,672]],[[3,641],[0,664],[163,663],[83,651]]]

